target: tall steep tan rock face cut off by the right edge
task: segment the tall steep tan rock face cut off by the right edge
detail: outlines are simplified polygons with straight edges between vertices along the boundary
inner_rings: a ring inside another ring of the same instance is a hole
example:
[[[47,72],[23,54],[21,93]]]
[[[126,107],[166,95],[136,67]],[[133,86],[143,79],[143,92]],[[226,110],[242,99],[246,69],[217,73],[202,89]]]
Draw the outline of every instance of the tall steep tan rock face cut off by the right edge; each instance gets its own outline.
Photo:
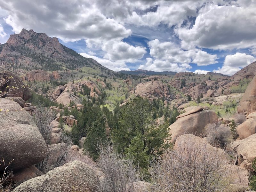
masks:
[[[240,106],[237,107],[238,113],[247,111],[250,95],[256,96],[256,76],[253,77],[251,83],[247,86],[244,92],[244,96],[240,100]]]

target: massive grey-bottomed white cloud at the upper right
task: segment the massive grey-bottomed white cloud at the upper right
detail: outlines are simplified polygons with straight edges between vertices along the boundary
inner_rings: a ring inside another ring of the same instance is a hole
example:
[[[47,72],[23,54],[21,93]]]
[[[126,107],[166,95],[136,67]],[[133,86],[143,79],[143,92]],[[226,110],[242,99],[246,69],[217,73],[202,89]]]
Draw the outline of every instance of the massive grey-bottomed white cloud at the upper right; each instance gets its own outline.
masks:
[[[218,6],[206,4],[192,28],[176,28],[183,48],[239,49],[256,46],[255,4]]]

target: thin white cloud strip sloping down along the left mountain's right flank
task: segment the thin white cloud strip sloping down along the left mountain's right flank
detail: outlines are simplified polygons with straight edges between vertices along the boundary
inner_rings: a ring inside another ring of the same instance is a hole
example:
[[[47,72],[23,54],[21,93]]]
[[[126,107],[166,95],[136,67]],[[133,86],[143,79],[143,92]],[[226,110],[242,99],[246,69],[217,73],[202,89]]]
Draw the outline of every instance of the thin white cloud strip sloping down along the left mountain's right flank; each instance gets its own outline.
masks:
[[[102,58],[99,58],[97,56],[94,56],[94,55],[88,55],[87,53],[80,53],[80,55],[86,57],[86,58],[92,58],[94,60],[96,60],[98,63],[100,63],[101,65],[113,70],[113,71],[120,71],[120,70],[130,70],[124,61],[110,61],[110,60],[107,60],[107,59],[102,59]]]

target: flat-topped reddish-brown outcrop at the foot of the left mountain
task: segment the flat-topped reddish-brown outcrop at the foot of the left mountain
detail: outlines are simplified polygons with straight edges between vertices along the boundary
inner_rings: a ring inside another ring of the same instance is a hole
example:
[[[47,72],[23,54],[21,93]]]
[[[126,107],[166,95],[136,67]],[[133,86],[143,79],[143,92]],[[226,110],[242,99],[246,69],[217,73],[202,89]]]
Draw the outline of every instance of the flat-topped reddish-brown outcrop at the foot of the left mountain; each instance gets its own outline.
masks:
[[[23,76],[25,81],[50,81],[50,79],[49,73],[41,69],[29,71],[26,76]]]

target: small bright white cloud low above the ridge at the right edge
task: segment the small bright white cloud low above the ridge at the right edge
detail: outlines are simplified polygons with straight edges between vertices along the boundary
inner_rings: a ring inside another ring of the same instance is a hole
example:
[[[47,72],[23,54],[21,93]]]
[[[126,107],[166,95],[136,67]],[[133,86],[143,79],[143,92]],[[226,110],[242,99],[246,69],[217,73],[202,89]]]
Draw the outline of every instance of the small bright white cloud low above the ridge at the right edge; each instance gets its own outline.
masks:
[[[255,60],[256,58],[252,55],[237,52],[234,55],[227,55],[223,66],[218,68],[218,70],[213,70],[213,72],[222,73],[225,75],[234,75],[241,68],[249,65]]]

